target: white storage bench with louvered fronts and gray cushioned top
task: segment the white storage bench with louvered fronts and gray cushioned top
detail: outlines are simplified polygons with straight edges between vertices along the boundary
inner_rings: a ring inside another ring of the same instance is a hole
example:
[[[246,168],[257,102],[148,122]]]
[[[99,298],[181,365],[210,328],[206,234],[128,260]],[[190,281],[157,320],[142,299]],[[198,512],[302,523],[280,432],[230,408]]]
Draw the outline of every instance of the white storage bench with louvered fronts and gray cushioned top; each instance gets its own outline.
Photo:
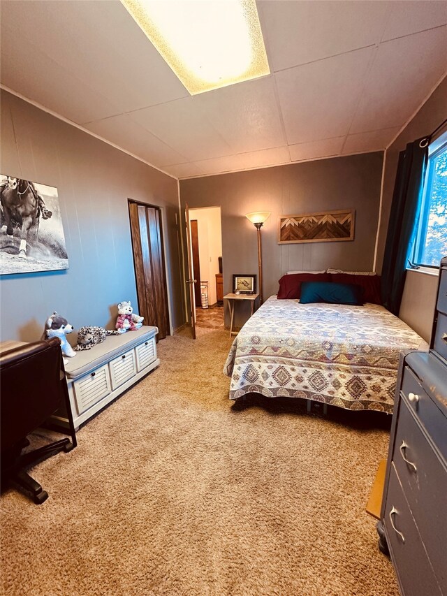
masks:
[[[115,400],[159,364],[156,327],[143,326],[122,335],[108,335],[90,350],[76,352],[65,365],[75,428]],[[54,423],[68,426],[67,412],[59,410]]]

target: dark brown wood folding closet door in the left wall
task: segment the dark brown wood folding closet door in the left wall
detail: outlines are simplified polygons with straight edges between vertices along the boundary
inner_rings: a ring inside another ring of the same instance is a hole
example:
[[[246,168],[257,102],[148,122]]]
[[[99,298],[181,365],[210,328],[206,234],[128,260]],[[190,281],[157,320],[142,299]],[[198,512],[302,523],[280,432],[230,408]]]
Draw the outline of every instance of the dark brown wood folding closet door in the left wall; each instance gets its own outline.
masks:
[[[138,314],[145,325],[159,328],[158,339],[170,335],[168,291],[163,256],[160,210],[129,202]]]

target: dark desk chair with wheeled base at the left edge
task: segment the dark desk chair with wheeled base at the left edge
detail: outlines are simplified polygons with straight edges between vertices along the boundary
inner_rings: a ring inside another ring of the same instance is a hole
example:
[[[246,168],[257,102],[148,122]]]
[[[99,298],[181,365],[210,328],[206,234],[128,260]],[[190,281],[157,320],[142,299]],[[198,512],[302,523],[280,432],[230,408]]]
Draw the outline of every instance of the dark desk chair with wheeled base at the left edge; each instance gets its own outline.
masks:
[[[31,491],[36,504],[48,493],[27,472],[38,460],[76,446],[73,419],[71,440],[61,439],[40,449],[22,453],[29,445],[27,435],[50,418],[65,402],[70,412],[67,384],[59,340],[22,344],[0,354],[1,486],[15,481]],[[67,433],[68,434],[68,433]]]

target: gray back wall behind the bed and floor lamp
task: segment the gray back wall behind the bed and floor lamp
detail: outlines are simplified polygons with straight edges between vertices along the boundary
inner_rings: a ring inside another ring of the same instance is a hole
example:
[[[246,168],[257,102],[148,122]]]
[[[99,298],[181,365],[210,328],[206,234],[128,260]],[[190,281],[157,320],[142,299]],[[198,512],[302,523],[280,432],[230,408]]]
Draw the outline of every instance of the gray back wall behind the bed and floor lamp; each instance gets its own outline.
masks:
[[[265,298],[277,293],[287,270],[371,270],[382,159],[376,152],[181,180],[182,208],[221,207],[223,291],[231,291],[233,273],[258,271],[256,229],[245,217],[251,211],[272,212],[262,231]],[[280,215],[344,208],[356,210],[352,242],[278,245]]]

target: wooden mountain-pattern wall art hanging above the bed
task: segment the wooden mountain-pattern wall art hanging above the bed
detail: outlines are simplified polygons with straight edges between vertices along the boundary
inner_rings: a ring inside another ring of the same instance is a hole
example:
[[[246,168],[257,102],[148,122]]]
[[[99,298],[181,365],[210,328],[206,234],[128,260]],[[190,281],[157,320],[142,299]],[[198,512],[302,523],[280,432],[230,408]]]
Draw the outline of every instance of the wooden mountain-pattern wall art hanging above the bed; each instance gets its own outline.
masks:
[[[354,240],[355,214],[353,209],[343,209],[281,215],[278,225],[278,244]]]

